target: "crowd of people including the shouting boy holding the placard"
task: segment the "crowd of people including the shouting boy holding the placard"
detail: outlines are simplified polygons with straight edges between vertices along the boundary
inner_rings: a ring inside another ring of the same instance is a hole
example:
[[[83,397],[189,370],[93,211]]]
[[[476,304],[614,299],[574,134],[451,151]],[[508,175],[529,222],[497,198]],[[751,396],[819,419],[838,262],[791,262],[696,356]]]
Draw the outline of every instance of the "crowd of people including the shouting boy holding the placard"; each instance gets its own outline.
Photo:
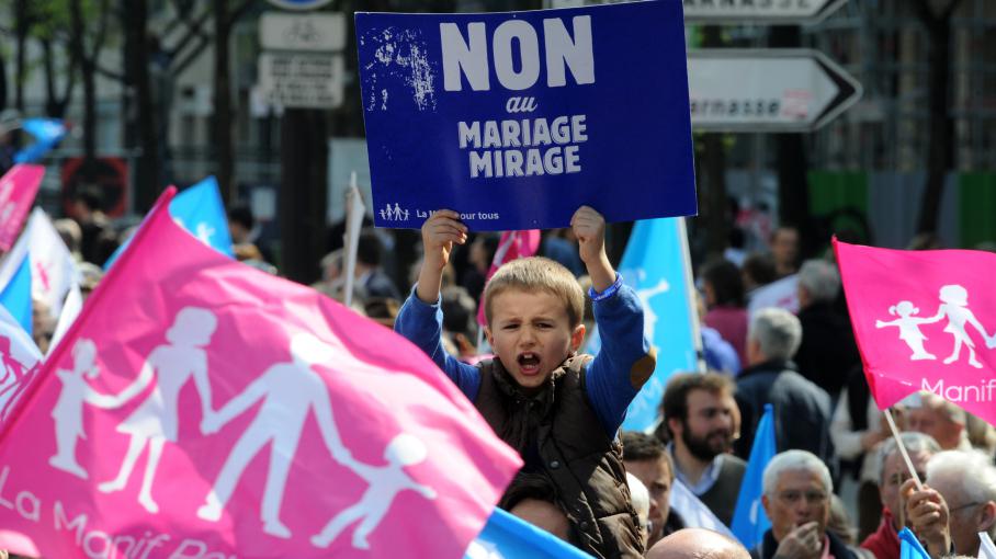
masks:
[[[80,261],[84,292],[120,242],[99,208],[84,191],[55,223]],[[233,208],[229,223],[236,256],[278,273],[253,244],[251,213]],[[596,557],[898,559],[903,526],[932,557],[974,557],[977,533],[996,535],[996,430],[929,392],[893,408],[917,487],[870,396],[836,265],[800,262],[791,227],[776,228],[767,251],[699,267],[710,372],[669,378],[654,434],[620,433],[655,349],[641,300],[609,262],[604,231],[601,215],[582,207],[570,228],[544,233],[540,258],[486,281],[498,237],[471,235],[457,215],[439,212],[422,228],[407,293],[385,266],[389,236],[364,229],[359,238],[353,308],[420,346],[522,456],[501,507]],[[342,248],[330,252],[314,287],[343,300],[344,261]],[[785,280],[788,299],[755,305]],[[54,328],[46,316],[35,307],[43,352]],[[592,358],[582,350],[596,324]],[[669,499],[682,483],[729,526],[766,404],[778,446],[763,475],[772,526],[746,549],[687,526]]]

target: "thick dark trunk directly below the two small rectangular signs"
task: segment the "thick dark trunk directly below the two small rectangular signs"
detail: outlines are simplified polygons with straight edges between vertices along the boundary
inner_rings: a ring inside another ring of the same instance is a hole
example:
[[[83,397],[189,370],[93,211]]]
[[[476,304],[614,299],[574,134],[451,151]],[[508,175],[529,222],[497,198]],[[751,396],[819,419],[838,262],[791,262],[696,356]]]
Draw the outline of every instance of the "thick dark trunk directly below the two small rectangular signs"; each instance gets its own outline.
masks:
[[[287,109],[281,121],[281,272],[303,284],[318,280],[328,206],[326,111]]]

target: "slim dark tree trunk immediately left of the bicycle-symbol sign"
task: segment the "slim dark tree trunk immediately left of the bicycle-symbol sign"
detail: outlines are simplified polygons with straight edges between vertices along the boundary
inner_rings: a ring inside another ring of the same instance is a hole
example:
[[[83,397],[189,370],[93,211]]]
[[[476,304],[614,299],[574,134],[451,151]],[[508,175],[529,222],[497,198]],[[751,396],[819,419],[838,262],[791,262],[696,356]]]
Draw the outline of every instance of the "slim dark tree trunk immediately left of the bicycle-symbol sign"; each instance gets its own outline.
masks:
[[[231,15],[228,0],[214,0],[214,149],[215,172],[222,199],[236,201],[234,184],[235,155],[231,114],[231,78],[228,68],[228,44],[231,38]]]

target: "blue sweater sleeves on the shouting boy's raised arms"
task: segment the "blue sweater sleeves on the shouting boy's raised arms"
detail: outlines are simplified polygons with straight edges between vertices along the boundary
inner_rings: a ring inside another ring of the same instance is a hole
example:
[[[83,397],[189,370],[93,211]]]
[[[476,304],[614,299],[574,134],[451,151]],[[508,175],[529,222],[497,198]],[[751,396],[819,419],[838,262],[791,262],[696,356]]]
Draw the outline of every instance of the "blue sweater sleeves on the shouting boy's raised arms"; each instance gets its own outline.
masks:
[[[593,308],[602,347],[586,368],[585,386],[588,401],[605,433],[614,437],[625,418],[626,407],[640,389],[631,381],[631,369],[649,353],[650,344],[644,335],[643,306],[632,288],[621,286],[615,295],[596,301]],[[480,388],[480,369],[457,361],[443,350],[442,324],[439,300],[427,305],[412,287],[394,329],[432,357],[464,396],[474,401]]]

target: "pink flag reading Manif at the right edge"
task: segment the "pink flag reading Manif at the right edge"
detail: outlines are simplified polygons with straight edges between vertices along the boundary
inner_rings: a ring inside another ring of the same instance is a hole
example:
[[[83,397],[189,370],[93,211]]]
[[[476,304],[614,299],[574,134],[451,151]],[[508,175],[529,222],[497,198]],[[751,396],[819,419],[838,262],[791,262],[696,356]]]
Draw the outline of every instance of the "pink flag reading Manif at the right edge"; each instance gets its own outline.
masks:
[[[879,406],[929,390],[996,424],[996,254],[834,248]]]

